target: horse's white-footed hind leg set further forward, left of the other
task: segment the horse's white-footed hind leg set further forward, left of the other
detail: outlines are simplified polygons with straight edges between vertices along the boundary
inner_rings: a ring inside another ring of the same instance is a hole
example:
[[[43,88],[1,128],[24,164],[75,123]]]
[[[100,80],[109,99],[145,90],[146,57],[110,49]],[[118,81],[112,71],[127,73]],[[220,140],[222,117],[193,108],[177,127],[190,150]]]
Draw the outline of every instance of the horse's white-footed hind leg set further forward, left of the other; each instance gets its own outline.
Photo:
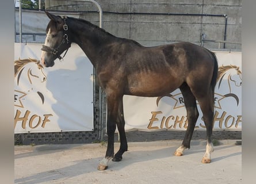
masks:
[[[179,87],[184,98],[184,104],[186,107],[187,117],[188,117],[188,128],[186,129],[184,140],[181,146],[175,151],[175,156],[183,155],[186,148],[190,148],[190,141],[194,132],[194,127],[198,118],[198,110],[196,105],[196,98],[192,94],[189,86],[184,83]]]

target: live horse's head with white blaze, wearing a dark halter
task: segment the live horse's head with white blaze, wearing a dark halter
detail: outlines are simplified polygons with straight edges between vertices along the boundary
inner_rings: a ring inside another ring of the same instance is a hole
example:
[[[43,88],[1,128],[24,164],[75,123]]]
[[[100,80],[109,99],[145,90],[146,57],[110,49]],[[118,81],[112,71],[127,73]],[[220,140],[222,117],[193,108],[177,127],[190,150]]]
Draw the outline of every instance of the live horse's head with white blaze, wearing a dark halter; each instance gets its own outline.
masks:
[[[67,17],[61,18],[47,11],[45,13],[50,21],[46,29],[45,43],[41,48],[41,63],[45,67],[52,67],[56,58],[62,59],[60,55],[71,46],[71,42],[68,40]]]

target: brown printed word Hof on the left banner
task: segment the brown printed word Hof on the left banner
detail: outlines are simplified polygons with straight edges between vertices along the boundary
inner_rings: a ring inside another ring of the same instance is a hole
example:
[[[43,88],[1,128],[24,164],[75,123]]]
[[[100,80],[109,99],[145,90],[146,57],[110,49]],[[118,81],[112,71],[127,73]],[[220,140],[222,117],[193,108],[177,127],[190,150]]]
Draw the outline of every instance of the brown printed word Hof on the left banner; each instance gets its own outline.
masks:
[[[30,114],[29,110],[26,110],[25,114],[22,115],[20,110],[16,110],[16,115],[14,117],[14,128],[17,125],[17,122],[21,122],[21,127],[26,129],[28,124],[29,128],[35,129],[41,125],[42,128],[45,127],[47,122],[50,122],[49,117],[53,116],[52,114],[44,114],[43,117],[37,114]]]

